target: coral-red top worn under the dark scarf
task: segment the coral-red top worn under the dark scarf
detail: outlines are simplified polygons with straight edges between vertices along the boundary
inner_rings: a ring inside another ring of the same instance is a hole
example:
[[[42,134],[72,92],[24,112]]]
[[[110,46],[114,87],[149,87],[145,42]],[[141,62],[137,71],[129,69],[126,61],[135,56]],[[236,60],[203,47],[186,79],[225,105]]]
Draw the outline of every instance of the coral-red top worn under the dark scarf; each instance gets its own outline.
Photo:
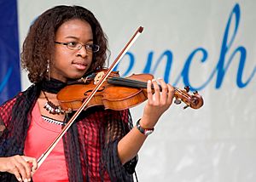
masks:
[[[26,136],[25,155],[38,159],[60,132],[60,125],[44,121],[36,104],[32,110],[32,121]],[[62,139],[33,174],[32,179],[35,182],[68,181]]]

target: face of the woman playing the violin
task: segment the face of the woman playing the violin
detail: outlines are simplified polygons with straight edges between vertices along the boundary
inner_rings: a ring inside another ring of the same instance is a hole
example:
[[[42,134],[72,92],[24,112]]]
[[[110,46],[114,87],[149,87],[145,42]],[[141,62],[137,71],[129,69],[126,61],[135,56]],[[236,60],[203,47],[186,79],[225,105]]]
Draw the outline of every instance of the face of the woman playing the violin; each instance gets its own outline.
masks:
[[[88,45],[93,43],[93,33],[90,24],[84,20],[68,20],[63,23],[55,33],[55,53],[50,60],[50,77],[67,82],[69,78],[83,77],[89,69],[92,61],[92,51],[86,50],[85,46],[79,50],[67,48],[67,45],[59,43],[80,43]]]

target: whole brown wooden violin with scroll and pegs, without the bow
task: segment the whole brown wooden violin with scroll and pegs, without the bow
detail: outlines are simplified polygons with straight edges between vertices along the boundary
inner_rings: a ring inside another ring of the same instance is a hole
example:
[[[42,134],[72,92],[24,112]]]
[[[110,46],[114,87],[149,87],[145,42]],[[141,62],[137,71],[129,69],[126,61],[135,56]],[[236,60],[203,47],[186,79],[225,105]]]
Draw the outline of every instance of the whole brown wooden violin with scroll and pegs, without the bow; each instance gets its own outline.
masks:
[[[108,70],[97,71],[97,73],[92,73],[90,76],[62,88],[57,94],[61,110],[77,111],[106,74],[106,71]],[[154,76],[151,74],[132,74],[130,77],[124,78],[119,77],[118,71],[112,71],[84,110],[92,106],[103,105],[105,109],[122,111],[139,105],[148,99],[147,81],[153,78]],[[152,89],[154,93],[154,88]],[[174,88],[174,98],[175,104],[185,103],[184,109],[187,107],[199,109],[203,105],[201,95],[196,91],[192,95],[189,94],[189,87],[185,87],[183,90]]]

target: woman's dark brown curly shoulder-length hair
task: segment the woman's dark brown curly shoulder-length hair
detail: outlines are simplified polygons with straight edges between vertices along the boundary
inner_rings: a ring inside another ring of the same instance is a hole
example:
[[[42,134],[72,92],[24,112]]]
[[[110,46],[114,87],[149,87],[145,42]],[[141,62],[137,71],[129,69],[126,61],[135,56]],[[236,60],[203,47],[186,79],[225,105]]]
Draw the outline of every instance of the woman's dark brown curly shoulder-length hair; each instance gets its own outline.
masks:
[[[89,71],[101,69],[107,59],[108,39],[94,14],[80,6],[55,6],[39,15],[30,27],[21,52],[21,66],[29,72],[31,82],[47,77],[47,60],[54,54],[55,32],[67,20],[85,20],[93,32],[93,42],[100,50],[93,54]]]

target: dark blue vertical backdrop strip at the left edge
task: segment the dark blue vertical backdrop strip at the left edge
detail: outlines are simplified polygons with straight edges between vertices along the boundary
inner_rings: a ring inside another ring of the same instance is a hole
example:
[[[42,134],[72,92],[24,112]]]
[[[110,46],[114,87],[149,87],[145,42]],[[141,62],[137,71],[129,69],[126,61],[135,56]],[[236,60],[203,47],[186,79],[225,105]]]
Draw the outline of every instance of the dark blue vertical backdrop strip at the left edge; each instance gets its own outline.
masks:
[[[16,0],[0,0],[0,104],[20,91]]]

